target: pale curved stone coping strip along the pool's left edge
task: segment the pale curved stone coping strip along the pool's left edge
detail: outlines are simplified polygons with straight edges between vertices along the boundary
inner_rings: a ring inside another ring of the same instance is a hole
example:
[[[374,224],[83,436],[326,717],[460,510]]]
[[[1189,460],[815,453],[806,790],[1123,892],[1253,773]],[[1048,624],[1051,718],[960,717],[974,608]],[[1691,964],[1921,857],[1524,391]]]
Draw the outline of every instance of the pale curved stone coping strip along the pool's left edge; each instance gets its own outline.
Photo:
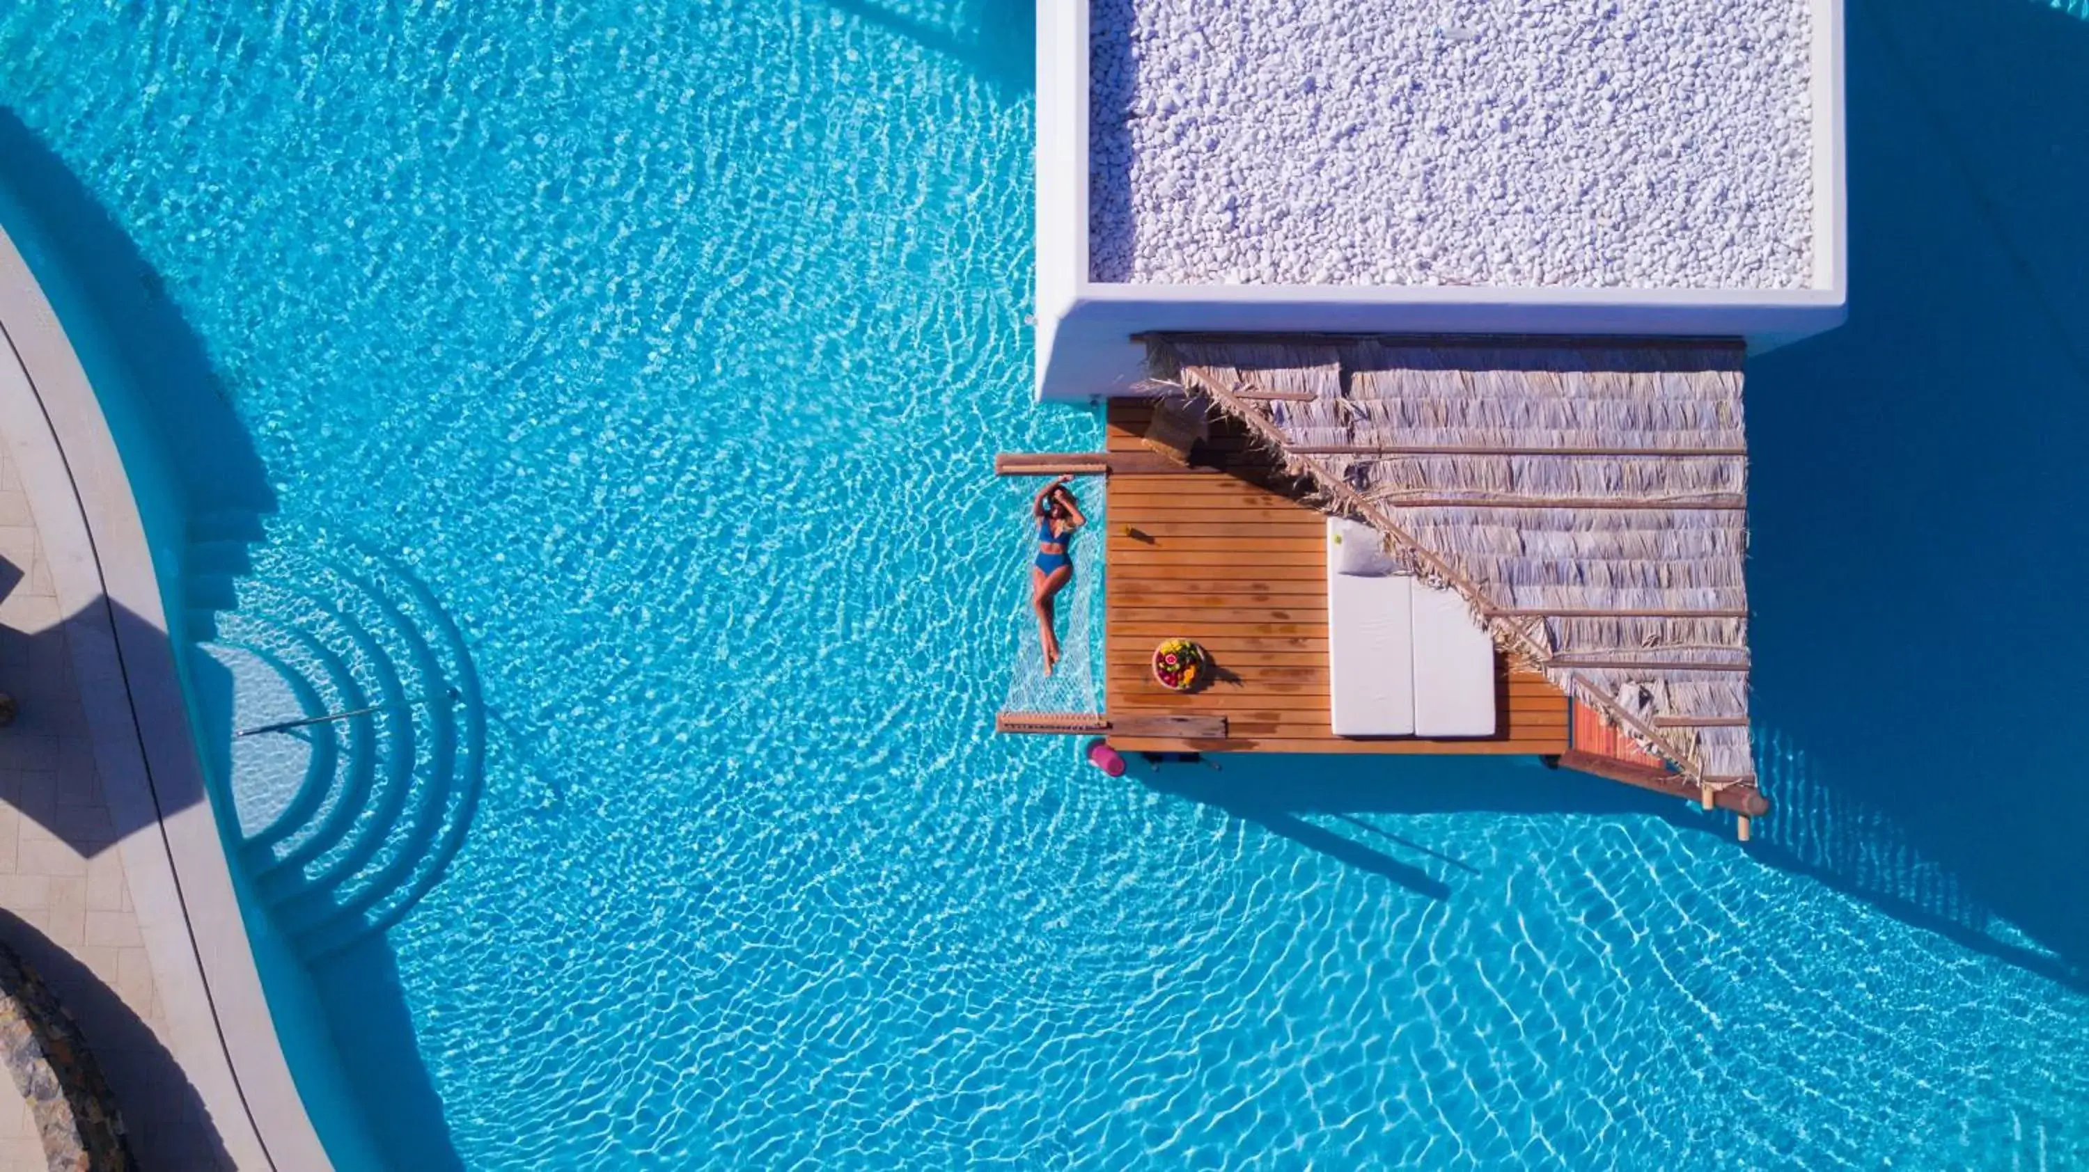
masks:
[[[165,1042],[238,1168],[332,1168],[263,992],[130,476],[71,338],[4,228],[0,341],[0,435],[61,612],[84,620],[75,631],[88,637],[69,650],[111,813],[140,827],[119,850]]]

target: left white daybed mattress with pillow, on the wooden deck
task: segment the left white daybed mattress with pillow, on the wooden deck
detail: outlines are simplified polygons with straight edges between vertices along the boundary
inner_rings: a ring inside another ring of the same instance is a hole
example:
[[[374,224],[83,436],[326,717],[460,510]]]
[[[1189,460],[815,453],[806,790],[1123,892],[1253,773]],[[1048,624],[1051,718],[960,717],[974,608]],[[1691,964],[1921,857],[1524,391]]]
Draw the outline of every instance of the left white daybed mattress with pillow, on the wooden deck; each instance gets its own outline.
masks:
[[[1414,579],[1343,572],[1345,547],[1381,541],[1370,526],[1327,518],[1327,692],[1339,737],[1414,733]]]

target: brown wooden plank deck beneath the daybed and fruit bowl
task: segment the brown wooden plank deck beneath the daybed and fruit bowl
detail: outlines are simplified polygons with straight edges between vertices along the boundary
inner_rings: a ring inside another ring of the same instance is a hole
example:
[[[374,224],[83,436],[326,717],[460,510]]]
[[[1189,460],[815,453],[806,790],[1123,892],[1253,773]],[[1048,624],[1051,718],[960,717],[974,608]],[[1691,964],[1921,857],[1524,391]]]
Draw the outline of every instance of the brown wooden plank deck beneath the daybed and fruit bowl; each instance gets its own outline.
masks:
[[[1109,453],[1143,453],[1151,407],[1109,403]],[[1141,464],[1141,462],[1134,462]],[[1567,750],[1567,696],[1502,671],[1492,737],[1337,737],[1327,696],[1324,522],[1272,462],[1214,424],[1191,470],[1109,478],[1107,710],[1222,714],[1226,740],[1111,735],[1145,752],[1531,752]],[[1195,696],[1153,683],[1153,646],[1203,643],[1220,679]]]

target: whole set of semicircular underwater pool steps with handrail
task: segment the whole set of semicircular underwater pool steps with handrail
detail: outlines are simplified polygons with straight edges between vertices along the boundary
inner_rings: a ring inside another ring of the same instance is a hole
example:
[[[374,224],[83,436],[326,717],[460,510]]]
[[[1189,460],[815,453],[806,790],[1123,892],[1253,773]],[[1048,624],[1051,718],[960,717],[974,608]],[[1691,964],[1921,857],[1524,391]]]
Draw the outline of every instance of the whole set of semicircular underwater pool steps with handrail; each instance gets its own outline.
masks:
[[[192,612],[221,597],[211,570],[234,554],[217,533],[192,541]],[[251,572],[224,575],[238,604],[217,610],[205,650],[224,671],[284,679],[236,677],[236,721],[274,719],[234,737],[234,806],[269,917],[315,959],[403,919],[464,846],[485,706],[462,633],[397,560],[309,533],[251,556]]]

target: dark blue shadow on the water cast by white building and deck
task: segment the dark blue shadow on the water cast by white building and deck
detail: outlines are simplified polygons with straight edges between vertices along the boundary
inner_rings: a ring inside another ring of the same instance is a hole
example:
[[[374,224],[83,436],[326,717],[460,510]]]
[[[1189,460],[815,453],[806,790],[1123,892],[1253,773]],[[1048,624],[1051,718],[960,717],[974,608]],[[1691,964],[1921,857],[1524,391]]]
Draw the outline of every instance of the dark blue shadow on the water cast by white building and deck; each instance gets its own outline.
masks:
[[[1748,372],[1757,756],[1778,804],[1748,850],[2089,990],[2083,77],[2089,23],[2068,13],[1851,0],[1851,318]],[[1260,767],[1149,786],[1431,898],[1448,888],[1427,871],[1299,815],[1654,813],[1726,834],[1538,777],[1320,758],[1281,788]]]

